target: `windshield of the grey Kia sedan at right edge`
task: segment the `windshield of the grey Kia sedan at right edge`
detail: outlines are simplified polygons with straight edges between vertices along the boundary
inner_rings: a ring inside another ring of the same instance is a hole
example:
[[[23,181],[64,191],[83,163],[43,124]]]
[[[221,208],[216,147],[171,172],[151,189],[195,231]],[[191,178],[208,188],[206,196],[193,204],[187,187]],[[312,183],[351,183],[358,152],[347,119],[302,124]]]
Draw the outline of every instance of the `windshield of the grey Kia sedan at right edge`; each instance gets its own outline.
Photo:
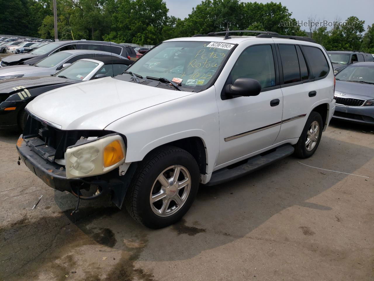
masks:
[[[336,80],[366,82],[374,84],[374,65],[352,65],[344,68],[337,75]]]

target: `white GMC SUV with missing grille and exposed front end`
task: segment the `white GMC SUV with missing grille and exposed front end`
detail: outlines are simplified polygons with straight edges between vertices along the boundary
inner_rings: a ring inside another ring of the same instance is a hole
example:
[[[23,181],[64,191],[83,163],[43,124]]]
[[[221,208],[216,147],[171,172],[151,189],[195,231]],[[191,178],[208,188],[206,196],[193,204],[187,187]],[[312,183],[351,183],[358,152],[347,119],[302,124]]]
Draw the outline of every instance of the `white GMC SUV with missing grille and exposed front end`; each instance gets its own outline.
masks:
[[[167,40],[122,75],[40,95],[20,158],[49,186],[111,194],[159,228],[187,212],[200,183],[310,157],[335,109],[331,62],[309,38],[258,33]]]

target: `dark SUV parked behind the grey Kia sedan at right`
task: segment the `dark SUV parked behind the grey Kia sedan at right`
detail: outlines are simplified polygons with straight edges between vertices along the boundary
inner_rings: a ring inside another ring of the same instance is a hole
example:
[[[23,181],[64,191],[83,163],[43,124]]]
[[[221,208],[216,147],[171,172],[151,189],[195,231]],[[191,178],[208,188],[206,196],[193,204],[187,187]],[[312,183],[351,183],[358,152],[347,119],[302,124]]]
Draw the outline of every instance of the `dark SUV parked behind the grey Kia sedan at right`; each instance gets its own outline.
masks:
[[[374,61],[371,54],[359,51],[329,51],[327,54],[331,60],[335,74],[352,63]]]

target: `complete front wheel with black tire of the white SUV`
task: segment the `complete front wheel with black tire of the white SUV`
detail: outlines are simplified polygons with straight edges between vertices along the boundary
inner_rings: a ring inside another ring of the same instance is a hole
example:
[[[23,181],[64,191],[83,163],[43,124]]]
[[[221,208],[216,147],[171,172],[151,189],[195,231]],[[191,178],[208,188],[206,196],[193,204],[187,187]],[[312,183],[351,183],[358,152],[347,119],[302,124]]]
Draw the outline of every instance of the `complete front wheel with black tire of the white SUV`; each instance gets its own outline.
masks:
[[[129,214],[158,229],[179,221],[199,188],[199,166],[186,150],[163,146],[141,161],[125,197]]]

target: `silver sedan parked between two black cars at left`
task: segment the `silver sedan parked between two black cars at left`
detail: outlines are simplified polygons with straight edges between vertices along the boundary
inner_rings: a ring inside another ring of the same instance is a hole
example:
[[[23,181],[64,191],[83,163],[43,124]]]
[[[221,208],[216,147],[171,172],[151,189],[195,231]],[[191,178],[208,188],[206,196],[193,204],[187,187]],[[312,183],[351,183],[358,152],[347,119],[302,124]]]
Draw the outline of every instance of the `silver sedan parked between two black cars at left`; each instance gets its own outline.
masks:
[[[32,77],[32,76],[43,76],[52,75],[57,71],[69,66],[74,61],[81,60],[83,58],[96,57],[107,57],[114,56],[118,58],[124,58],[120,55],[116,55],[110,52],[94,51],[94,50],[67,50],[56,52],[55,54],[49,55],[43,60],[39,61],[34,65],[15,65],[1,67],[0,69],[0,80],[20,78],[20,77]]]

